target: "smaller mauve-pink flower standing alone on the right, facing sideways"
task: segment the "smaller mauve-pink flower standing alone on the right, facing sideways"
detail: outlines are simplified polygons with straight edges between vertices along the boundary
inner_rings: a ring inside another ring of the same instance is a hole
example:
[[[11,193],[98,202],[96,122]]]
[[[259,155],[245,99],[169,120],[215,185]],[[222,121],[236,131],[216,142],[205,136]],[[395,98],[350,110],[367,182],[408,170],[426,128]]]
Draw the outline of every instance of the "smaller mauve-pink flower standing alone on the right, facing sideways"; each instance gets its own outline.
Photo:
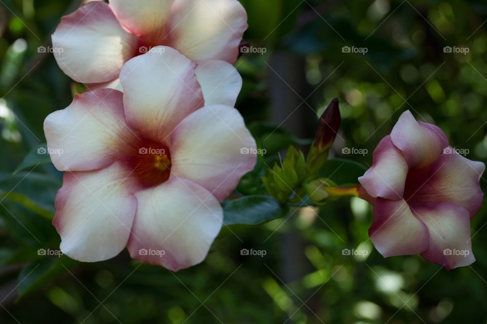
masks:
[[[482,204],[484,170],[456,153],[441,129],[404,112],[359,178],[372,197],[369,235],[379,253],[421,254],[446,269],[473,263],[470,219]]]

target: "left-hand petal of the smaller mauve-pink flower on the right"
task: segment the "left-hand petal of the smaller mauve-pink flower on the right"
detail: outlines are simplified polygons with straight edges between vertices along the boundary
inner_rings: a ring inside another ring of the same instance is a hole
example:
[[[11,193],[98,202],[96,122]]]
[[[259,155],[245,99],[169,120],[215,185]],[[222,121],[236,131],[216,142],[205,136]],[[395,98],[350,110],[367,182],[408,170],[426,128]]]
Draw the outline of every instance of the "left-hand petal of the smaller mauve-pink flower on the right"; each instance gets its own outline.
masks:
[[[360,184],[372,197],[401,199],[408,173],[401,151],[391,141],[383,138],[373,152],[372,167],[359,178]]]

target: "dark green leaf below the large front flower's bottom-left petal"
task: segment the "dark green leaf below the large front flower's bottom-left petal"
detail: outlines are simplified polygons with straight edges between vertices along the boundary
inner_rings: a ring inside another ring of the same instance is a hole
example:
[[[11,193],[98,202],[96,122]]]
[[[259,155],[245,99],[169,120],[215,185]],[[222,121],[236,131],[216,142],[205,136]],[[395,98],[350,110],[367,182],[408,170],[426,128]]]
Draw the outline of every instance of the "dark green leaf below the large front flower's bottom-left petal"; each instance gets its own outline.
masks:
[[[22,298],[36,291],[77,264],[77,261],[64,255],[60,257],[44,257],[22,268],[18,276],[17,293]]]

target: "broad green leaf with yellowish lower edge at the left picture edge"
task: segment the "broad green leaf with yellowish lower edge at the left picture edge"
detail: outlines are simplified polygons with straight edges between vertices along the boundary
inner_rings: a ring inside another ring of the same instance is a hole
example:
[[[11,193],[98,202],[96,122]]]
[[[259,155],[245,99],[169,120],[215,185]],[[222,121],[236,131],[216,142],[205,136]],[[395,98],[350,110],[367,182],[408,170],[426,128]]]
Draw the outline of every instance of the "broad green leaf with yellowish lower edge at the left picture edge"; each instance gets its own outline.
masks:
[[[0,197],[14,201],[30,211],[52,219],[54,198],[61,183],[39,173],[0,174]]]

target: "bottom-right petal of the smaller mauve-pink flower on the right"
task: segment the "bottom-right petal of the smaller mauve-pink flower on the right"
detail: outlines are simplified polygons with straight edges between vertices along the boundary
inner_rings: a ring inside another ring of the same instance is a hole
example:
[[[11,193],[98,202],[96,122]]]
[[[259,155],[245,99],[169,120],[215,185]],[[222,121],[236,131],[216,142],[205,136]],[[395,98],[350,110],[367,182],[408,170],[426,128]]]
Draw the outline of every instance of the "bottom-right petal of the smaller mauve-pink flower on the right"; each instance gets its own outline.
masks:
[[[422,254],[426,260],[444,265],[447,270],[475,261],[470,241],[470,215],[465,208],[440,203],[415,208],[413,212],[430,232],[428,250]]]

